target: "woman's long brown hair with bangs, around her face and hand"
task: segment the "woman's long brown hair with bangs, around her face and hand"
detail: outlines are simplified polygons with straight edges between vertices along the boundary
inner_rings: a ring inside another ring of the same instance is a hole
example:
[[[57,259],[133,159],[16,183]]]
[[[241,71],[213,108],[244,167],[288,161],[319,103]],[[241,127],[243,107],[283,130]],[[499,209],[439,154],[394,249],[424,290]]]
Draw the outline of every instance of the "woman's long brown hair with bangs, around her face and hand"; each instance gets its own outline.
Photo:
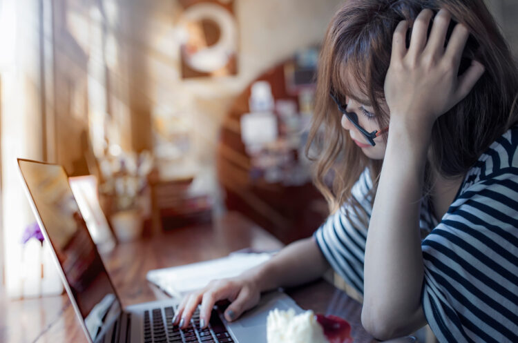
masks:
[[[345,203],[356,207],[351,190],[365,168],[370,170],[374,201],[382,161],[366,157],[345,134],[329,92],[354,96],[358,89],[347,84],[354,78],[368,96],[379,128],[386,127],[389,113],[380,104],[385,101],[392,34],[401,20],[412,26],[423,8],[434,12],[445,8],[452,14],[448,35],[454,23],[470,30],[459,73],[472,59],[486,68],[470,94],[435,122],[426,175],[432,171],[443,177],[465,175],[483,151],[517,123],[517,67],[482,0],[349,0],[329,23],[320,52],[315,113],[306,146],[306,155],[316,161],[314,182],[331,212]],[[425,187],[429,183],[425,180]]]

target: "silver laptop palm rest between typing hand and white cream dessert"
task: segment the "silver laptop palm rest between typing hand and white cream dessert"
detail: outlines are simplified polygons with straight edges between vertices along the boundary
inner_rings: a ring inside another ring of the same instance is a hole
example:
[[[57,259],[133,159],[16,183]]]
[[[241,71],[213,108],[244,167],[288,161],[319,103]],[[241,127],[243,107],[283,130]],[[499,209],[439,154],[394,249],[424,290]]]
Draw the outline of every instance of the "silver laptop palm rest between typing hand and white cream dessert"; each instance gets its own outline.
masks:
[[[304,311],[291,297],[274,291],[262,295],[258,306],[244,313],[236,322],[227,323],[227,326],[238,342],[251,342],[251,337],[253,342],[266,342],[266,320],[268,313],[274,308],[284,311],[293,308],[297,314]]]

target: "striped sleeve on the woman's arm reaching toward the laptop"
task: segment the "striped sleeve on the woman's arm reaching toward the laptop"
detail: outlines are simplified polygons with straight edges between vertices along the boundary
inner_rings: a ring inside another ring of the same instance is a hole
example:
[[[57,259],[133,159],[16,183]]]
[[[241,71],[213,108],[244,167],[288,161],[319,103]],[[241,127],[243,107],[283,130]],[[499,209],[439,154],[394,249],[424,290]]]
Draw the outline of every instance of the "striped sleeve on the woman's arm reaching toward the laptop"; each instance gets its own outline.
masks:
[[[323,255],[345,282],[363,294],[363,262],[365,240],[372,213],[372,183],[365,170],[352,188],[352,195],[360,204],[356,211],[348,205],[330,215],[318,228],[314,237]]]

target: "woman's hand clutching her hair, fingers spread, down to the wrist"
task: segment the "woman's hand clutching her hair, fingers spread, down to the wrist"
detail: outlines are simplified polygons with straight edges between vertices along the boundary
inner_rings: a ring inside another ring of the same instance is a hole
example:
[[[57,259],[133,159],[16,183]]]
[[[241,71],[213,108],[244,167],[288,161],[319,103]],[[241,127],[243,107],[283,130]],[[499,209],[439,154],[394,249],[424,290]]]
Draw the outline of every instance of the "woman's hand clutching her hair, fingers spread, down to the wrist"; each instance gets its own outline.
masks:
[[[457,24],[444,47],[450,13],[440,10],[427,39],[432,10],[423,10],[414,21],[410,47],[406,47],[407,21],[394,31],[392,57],[385,78],[385,100],[390,121],[403,121],[416,130],[431,130],[434,121],[461,101],[484,72],[478,61],[457,76],[461,55],[470,32]]]

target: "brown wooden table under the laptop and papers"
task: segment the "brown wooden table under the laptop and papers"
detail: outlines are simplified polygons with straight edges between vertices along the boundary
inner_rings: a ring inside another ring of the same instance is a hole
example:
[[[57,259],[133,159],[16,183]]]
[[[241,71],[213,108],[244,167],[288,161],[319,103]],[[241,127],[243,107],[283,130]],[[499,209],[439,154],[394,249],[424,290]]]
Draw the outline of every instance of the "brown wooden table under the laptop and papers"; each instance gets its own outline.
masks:
[[[238,213],[214,219],[213,224],[176,229],[137,242],[119,244],[103,255],[124,306],[165,295],[146,282],[154,268],[178,266],[223,257],[242,248],[274,250],[282,244]],[[343,291],[320,280],[287,290],[303,308],[334,314],[352,324],[355,342],[376,342],[360,324],[361,304]],[[64,294],[33,300],[7,300],[0,289],[0,342],[87,342],[79,321]]]

